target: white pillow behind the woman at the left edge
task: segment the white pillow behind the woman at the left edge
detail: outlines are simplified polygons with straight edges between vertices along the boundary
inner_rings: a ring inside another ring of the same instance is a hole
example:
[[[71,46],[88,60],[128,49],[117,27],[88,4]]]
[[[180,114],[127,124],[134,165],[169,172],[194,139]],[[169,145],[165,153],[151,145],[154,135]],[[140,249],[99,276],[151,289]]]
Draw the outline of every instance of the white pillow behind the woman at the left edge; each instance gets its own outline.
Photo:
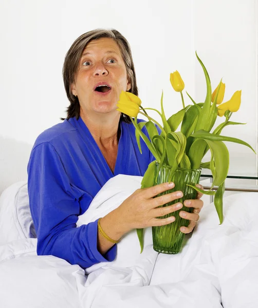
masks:
[[[25,181],[12,184],[0,197],[0,235],[0,245],[13,240],[36,238]]]

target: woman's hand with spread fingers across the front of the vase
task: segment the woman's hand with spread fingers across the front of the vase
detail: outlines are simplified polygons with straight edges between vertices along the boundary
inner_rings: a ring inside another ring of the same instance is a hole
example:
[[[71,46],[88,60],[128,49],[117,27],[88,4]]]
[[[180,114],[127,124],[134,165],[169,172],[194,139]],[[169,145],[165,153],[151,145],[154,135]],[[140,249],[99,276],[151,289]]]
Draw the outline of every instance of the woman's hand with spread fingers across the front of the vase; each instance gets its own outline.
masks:
[[[123,228],[123,234],[132,229],[151,226],[162,226],[175,221],[175,217],[161,217],[182,208],[182,203],[177,202],[166,207],[158,207],[182,197],[181,191],[174,191],[167,195],[156,197],[161,192],[172,189],[174,183],[163,183],[149,188],[137,189],[130,197],[116,209]],[[156,197],[156,198],[154,198]]]

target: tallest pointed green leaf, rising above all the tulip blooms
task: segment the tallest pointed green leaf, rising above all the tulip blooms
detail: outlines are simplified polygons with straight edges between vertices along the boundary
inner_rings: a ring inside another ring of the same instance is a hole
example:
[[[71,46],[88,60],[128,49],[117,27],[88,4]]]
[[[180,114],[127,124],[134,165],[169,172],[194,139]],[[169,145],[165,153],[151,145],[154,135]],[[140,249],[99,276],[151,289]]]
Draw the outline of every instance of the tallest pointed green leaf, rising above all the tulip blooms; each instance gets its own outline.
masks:
[[[200,115],[198,118],[198,122],[196,124],[196,128],[195,130],[199,130],[199,129],[205,129],[207,126],[207,123],[209,121],[209,114],[210,114],[210,108],[211,108],[211,81],[210,81],[210,77],[209,74],[207,72],[206,67],[204,66],[204,64],[201,62],[201,60],[199,59],[197,52],[195,52],[196,57],[202,67],[202,69],[204,70],[204,74],[205,74],[205,79],[206,79],[206,85],[207,85],[207,94],[206,94],[206,99],[204,102],[204,105],[201,108],[200,111]]]

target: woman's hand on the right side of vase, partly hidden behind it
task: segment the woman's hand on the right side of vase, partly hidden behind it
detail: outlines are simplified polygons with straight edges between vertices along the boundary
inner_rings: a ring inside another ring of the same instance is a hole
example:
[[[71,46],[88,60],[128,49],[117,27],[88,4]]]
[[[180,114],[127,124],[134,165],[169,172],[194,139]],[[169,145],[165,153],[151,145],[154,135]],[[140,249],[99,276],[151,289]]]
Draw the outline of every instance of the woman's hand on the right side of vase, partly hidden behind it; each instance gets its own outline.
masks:
[[[196,185],[198,188],[204,189],[204,187],[200,184]],[[197,199],[194,200],[186,200],[185,202],[183,202],[183,205],[187,206],[187,207],[193,207],[193,213],[187,213],[186,211],[181,210],[179,213],[179,216],[185,219],[190,220],[189,226],[188,227],[180,227],[180,231],[182,233],[191,233],[193,231],[193,228],[196,225],[196,222],[199,220],[199,213],[200,210],[202,208],[202,206],[204,206],[204,201],[200,200],[200,198],[202,197],[201,192],[197,192]],[[197,214],[196,214],[197,213]]]

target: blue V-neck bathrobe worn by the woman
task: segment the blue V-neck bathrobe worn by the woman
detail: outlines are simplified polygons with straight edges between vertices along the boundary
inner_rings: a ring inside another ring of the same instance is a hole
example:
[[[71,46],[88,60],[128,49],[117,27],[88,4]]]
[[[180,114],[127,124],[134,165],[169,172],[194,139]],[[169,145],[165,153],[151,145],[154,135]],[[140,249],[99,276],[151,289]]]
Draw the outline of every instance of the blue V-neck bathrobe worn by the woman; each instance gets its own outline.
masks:
[[[98,251],[97,220],[80,227],[76,222],[110,178],[143,176],[154,160],[142,140],[140,153],[134,125],[119,125],[114,174],[81,118],[64,120],[36,139],[28,163],[28,192],[38,255],[57,256],[81,267],[115,259],[117,245],[104,256]],[[143,131],[148,136],[145,127]]]

